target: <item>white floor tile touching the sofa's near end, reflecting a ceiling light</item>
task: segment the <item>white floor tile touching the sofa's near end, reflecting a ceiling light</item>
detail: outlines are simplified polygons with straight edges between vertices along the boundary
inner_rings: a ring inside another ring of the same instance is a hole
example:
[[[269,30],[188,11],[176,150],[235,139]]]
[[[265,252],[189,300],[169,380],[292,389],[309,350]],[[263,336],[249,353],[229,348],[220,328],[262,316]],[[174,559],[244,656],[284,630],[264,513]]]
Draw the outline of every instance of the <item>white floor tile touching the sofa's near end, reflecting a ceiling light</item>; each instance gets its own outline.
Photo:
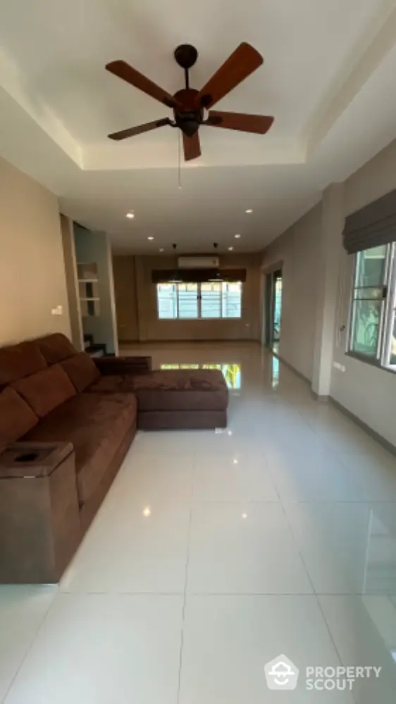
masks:
[[[190,508],[103,507],[61,582],[62,591],[182,593]]]

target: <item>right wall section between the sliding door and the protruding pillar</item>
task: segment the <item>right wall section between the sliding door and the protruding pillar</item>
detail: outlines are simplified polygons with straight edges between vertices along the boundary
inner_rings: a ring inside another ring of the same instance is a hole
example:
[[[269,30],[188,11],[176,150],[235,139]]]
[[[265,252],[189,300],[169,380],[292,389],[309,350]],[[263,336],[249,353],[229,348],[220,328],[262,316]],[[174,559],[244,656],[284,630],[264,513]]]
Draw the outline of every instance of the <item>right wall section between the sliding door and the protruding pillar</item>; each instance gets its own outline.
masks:
[[[279,354],[307,379],[314,368],[321,203],[273,241],[263,268],[283,262]]]

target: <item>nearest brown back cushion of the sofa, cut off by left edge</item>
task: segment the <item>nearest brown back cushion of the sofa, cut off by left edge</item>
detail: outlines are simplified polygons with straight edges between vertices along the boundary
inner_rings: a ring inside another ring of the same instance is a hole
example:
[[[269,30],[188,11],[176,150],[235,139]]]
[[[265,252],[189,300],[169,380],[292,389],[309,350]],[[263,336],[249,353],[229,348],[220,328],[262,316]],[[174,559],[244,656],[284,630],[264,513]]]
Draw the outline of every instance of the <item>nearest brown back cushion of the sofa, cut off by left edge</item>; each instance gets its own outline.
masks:
[[[39,419],[15,389],[7,386],[0,393],[0,448],[29,432]]]

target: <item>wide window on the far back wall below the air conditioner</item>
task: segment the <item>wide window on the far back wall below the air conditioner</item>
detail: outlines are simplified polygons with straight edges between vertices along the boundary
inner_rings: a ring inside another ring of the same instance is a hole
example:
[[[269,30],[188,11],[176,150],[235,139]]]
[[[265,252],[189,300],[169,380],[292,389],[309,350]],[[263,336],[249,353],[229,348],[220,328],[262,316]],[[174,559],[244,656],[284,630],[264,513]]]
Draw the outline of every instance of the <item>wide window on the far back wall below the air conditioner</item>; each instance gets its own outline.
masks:
[[[240,281],[157,284],[156,296],[162,320],[242,317]]]

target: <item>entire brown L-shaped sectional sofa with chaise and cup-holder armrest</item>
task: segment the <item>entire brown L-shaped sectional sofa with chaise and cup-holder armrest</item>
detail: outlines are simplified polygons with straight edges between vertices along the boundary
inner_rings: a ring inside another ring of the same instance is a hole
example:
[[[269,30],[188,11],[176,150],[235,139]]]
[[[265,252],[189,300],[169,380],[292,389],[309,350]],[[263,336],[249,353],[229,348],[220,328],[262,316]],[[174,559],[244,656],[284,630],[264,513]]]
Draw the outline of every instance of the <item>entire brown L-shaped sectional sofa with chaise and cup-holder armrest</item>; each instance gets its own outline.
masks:
[[[93,360],[61,334],[0,348],[0,583],[58,582],[137,427],[225,427],[227,406],[218,370]]]

